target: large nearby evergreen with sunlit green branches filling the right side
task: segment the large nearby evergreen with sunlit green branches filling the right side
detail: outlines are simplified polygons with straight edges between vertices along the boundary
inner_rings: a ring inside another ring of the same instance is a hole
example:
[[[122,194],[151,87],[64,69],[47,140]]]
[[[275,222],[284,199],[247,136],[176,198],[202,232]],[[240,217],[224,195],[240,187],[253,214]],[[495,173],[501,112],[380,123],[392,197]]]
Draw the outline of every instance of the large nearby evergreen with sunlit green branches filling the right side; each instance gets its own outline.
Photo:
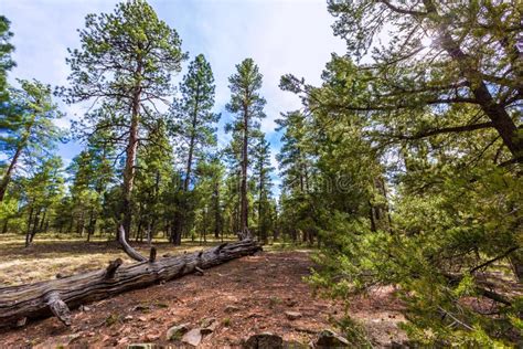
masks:
[[[407,307],[405,328],[424,345],[514,345],[521,332],[512,319],[521,310],[504,289],[522,277],[521,97],[515,56],[494,46],[515,43],[516,9],[329,1],[329,10],[349,54],[361,59],[369,49],[372,63],[333,55],[319,87],[281,78],[284,89],[302,96],[307,118],[299,120],[310,125],[306,136],[297,126],[286,133],[285,180],[296,177],[289,165],[298,163],[297,145],[307,144],[312,182],[332,188],[289,190],[281,199],[280,218],[296,216],[297,202],[313,208],[312,220],[298,221],[322,242],[312,284],[344,299],[394,285]],[[385,28],[389,44],[373,45]],[[430,47],[424,35],[433,36]],[[511,73],[495,78],[504,70]],[[493,273],[509,267],[509,275]]]

